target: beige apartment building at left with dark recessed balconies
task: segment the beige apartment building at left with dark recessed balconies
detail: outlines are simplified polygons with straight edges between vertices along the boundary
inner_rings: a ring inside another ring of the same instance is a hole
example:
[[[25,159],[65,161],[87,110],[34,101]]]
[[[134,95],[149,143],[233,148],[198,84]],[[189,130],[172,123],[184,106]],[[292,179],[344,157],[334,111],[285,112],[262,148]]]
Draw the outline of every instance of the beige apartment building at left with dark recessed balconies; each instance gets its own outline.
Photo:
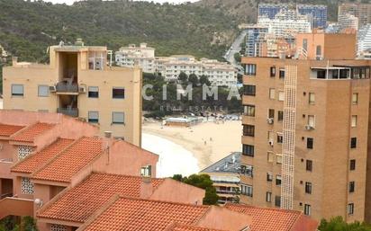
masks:
[[[50,47],[50,64],[4,68],[4,108],[59,112],[140,146],[141,70],[111,67],[106,47]]]

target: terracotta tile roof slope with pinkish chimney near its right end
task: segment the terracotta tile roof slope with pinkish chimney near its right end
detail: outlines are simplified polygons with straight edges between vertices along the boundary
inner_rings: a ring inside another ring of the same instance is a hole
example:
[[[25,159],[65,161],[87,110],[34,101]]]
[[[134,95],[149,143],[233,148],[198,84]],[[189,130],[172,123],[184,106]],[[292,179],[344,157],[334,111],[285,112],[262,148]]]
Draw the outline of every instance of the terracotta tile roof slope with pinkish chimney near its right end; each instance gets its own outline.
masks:
[[[38,218],[85,222],[114,194],[139,198],[140,182],[139,176],[92,173],[84,182],[67,191],[42,210]],[[164,182],[164,179],[152,179],[154,188],[157,188],[161,182]]]

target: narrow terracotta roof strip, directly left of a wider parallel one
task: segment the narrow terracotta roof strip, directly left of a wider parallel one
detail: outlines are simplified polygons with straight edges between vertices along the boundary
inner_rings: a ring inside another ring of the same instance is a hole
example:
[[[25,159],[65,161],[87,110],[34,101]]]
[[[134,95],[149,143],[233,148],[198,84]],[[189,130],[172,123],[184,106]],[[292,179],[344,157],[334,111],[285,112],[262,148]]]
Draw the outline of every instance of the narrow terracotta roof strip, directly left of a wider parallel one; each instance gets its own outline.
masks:
[[[12,167],[12,172],[18,173],[33,173],[39,169],[42,165],[47,164],[50,159],[58,155],[63,149],[72,144],[73,139],[59,138],[50,146],[45,147],[40,152],[29,155],[23,161]]]

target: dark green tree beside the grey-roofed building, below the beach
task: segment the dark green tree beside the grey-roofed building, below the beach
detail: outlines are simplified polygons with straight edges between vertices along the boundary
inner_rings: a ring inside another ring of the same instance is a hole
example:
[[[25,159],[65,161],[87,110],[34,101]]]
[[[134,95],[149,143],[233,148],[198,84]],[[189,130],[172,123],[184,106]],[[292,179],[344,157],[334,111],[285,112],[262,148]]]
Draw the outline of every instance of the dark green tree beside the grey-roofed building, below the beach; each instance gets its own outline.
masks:
[[[213,187],[213,181],[210,179],[208,174],[192,174],[188,177],[183,177],[181,174],[175,174],[173,179],[178,182],[185,182],[187,184],[193,185],[197,188],[205,190],[204,205],[216,205],[218,203],[219,197],[216,194],[216,189]]]

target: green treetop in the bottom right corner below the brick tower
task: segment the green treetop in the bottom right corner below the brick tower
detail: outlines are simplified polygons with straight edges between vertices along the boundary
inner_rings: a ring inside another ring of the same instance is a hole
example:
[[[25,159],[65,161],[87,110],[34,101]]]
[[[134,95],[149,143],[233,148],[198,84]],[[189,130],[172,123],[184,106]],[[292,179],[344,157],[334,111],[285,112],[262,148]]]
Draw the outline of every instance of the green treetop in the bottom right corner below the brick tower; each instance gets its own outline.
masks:
[[[322,219],[318,229],[321,231],[371,231],[371,225],[358,221],[347,223],[343,218],[336,217],[331,218],[330,221]]]

